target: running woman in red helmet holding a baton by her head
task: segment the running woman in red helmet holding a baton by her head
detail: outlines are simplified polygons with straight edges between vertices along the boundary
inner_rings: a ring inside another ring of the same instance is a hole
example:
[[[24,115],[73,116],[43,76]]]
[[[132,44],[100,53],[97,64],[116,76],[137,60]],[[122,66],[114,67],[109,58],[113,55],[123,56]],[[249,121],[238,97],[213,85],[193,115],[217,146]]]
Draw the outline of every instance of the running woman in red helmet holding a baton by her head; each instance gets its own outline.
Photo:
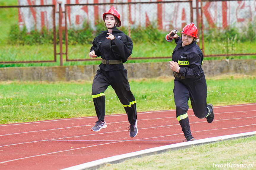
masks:
[[[171,36],[177,44],[172,53],[170,68],[174,74],[174,101],[176,106],[176,118],[179,121],[187,141],[195,140],[190,131],[187,116],[188,100],[196,117],[206,118],[208,123],[214,119],[213,105],[206,103],[207,86],[202,69],[203,53],[196,42],[199,42],[197,27],[194,23],[186,25],[181,33]]]

